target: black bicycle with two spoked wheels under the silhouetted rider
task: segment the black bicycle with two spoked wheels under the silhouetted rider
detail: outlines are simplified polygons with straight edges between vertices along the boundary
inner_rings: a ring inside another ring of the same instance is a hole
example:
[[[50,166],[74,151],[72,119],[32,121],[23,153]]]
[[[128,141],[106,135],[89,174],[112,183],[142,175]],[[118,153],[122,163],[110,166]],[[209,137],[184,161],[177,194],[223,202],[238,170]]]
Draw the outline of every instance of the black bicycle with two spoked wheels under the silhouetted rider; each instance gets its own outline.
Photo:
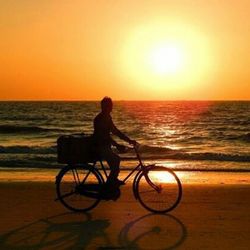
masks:
[[[182,197],[182,185],[178,176],[169,168],[155,164],[144,165],[138,146],[134,146],[138,165],[124,178],[126,181],[136,172],[132,188],[136,200],[154,213],[173,210]],[[86,212],[103,200],[102,190],[108,178],[101,159],[101,171],[92,164],[68,164],[56,176],[57,198],[66,208],[76,212]]]

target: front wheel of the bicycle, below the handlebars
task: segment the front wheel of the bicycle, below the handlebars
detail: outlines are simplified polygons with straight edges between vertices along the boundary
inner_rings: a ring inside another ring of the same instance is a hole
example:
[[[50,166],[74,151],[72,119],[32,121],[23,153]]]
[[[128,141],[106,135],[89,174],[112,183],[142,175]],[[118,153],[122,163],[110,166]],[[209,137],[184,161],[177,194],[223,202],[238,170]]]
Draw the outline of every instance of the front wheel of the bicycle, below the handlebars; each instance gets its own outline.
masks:
[[[141,171],[135,187],[141,205],[154,213],[173,210],[182,196],[181,182],[177,175],[161,166],[152,165]]]

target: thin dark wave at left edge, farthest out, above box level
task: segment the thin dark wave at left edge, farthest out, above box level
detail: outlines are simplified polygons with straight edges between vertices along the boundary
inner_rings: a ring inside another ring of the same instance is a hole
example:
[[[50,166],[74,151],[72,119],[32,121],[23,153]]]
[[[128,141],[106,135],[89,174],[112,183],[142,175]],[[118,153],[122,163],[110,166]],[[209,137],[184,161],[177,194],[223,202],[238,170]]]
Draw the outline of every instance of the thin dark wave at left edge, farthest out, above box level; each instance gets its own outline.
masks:
[[[43,133],[43,132],[62,132],[63,129],[43,128],[39,126],[18,126],[18,125],[0,125],[1,134],[13,133]]]

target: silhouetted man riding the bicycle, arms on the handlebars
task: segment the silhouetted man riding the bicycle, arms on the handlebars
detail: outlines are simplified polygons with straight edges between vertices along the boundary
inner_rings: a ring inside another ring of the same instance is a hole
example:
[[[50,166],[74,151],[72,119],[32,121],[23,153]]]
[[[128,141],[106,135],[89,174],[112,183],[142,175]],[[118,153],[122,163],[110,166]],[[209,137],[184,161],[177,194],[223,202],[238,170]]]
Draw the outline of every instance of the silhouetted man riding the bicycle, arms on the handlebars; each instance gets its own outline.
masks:
[[[101,158],[107,161],[111,170],[107,184],[122,185],[124,183],[118,179],[120,172],[120,157],[112,151],[111,146],[115,146],[119,152],[124,152],[125,146],[114,141],[111,137],[111,133],[132,145],[135,145],[136,141],[131,140],[114,125],[110,115],[113,109],[111,98],[104,97],[102,99],[101,109],[101,112],[94,119],[95,145]]]

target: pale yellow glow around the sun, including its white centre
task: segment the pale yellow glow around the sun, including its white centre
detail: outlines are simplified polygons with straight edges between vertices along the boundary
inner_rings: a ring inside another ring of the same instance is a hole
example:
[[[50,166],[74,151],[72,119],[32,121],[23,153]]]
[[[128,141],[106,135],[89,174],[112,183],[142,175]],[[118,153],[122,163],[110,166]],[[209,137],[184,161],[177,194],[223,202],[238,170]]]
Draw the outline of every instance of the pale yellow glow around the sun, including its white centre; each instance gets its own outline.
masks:
[[[213,55],[212,44],[202,32],[185,23],[161,20],[130,33],[121,70],[139,88],[158,93],[204,88],[212,75]]]

